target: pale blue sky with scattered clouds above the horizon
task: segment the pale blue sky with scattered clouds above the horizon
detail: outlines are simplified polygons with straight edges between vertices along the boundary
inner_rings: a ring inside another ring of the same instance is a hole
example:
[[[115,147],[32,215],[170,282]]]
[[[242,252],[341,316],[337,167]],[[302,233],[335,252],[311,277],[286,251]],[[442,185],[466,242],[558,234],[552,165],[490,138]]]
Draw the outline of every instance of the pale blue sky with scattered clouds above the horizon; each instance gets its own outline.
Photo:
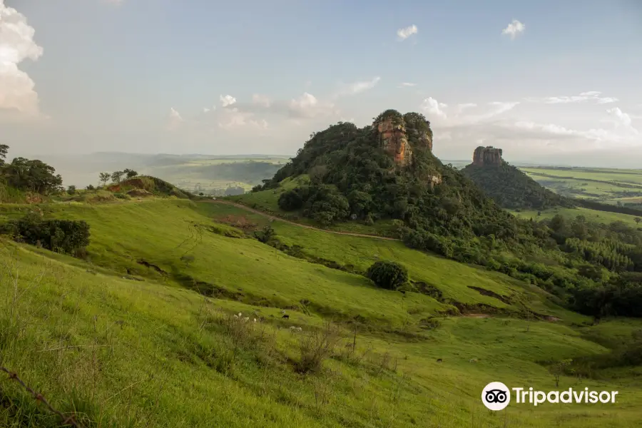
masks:
[[[290,154],[395,108],[444,159],[642,168],[641,76],[635,0],[0,0],[11,156]]]

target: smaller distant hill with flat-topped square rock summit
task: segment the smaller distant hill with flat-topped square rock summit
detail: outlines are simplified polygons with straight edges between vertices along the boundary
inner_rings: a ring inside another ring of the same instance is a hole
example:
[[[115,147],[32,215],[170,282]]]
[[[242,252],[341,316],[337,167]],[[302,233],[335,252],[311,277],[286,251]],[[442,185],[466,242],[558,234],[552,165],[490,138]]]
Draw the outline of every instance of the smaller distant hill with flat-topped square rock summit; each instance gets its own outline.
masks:
[[[551,192],[501,158],[501,149],[478,147],[473,162],[462,169],[486,195],[503,208],[546,210],[571,207],[567,198]]]

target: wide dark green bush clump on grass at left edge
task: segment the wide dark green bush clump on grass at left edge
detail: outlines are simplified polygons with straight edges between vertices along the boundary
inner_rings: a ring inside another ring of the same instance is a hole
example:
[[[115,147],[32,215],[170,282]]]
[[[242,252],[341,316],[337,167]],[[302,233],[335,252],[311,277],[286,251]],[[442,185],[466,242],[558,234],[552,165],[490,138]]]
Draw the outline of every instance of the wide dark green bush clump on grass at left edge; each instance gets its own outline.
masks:
[[[19,242],[41,245],[56,253],[75,255],[89,245],[89,225],[84,220],[41,220],[36,213],[29,213],[4,225],[1,231]]]

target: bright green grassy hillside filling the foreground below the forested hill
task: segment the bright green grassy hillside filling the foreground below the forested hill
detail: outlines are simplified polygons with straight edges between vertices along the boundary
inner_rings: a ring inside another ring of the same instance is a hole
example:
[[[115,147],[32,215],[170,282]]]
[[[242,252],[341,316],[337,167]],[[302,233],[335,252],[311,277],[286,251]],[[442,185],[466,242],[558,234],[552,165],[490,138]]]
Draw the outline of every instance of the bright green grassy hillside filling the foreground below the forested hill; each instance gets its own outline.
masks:
[[[26,208],[3,213],[20,218]],[[496,379],[556,389],[557,362],[615,355],[642,328],[636,320],[591,326],[501,273],[399,242],[270,223],[230,205],[149,198],[37,208],[44,220],[86,221],[91,242],[79,259],[0,239],[0,367],[80,426],[638,420],[635,366],[585,370],[579,386],[573,372],[559,376],[564,389],[626,390],[617,404],[511,404],[495,414],[479,402]],[[266,225],[280,249],[255,238]],[[374,287],[360,272],[376,260],[404,263],[424,292]],[[305,370],[317,340],[329,352],[319,370]],[[59,425],[20,384],[0,382],[0,424]]]

